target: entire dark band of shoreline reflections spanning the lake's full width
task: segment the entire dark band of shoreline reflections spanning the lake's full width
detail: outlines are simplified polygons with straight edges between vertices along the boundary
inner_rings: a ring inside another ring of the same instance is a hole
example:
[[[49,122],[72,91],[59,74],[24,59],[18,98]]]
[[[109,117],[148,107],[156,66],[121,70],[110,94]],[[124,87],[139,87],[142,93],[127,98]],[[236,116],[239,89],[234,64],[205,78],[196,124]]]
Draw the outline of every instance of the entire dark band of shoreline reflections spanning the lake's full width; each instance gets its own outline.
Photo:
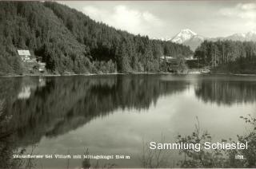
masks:
[[[116,110],[148,112],[152,105],[157,105],[159,98],[177,96],[179,99],[182,97],[178,95],[183,92],[192,94],[190,99],[194,100],[195,96],[202,103],[219,106],[254,103],[255,85],[253,78],[246,77],[126,75],[0,78],[0,101],[3,103],[1,136],[8,135],[4,140],[0,138],[6,143],[2,144],[1,151],[8,147],[10,153],[17,147],[39,143],[43,136],[62,136]],[[166,103],[170,105],[166,108],[172,107],[168,101]],[[188,107],[186,110],[195,105],[182,103],[182,100],[179,102]],[[186,113],[183,111],[186,117],[194,116]],[[178,118],[184,121],[186,118],[183,115]],[[173,118],[178,119],[177,115]]]

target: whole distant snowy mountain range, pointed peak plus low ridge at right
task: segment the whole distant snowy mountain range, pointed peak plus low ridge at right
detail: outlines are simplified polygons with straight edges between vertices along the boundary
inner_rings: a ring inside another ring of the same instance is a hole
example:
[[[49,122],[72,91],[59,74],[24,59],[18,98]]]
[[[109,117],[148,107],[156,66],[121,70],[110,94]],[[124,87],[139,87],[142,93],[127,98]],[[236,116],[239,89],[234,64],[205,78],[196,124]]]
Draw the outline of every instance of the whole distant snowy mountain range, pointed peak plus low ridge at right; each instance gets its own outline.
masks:
[[[169,41],[182,44],[182,45],[188,45],[190,46],[190,49],[195,50],[202,43],[202,41],[205,41],[205,40],[256,41],[256,31],[249,31],[246,33],[234,33],[227,37],[209,38],[209,37],[203,37],[198,33],[194,33],[190,29],[182,29],[178,34],[176,34]]]

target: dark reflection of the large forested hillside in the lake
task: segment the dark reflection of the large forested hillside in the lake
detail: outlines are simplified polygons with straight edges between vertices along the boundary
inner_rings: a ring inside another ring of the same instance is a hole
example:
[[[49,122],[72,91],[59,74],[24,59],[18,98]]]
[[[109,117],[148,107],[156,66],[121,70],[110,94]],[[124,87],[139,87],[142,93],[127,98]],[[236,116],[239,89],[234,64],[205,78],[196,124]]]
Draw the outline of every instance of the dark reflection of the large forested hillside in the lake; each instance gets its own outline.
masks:
[[[49,77],[40,85],[38,77],[0,81],[5,114],[12,116],[6,128],[27,144],[42,136],[58,136],[118,108],[150,108],[159,96],[181,92],[187,82],[161,81],[159,76]],[[7,86],[8,84],[8,86]],[[4,86],[2,86],[4,85]],[[22,88],[30,96],[18,99]],[[14,89],[13,89],[14,88]]]

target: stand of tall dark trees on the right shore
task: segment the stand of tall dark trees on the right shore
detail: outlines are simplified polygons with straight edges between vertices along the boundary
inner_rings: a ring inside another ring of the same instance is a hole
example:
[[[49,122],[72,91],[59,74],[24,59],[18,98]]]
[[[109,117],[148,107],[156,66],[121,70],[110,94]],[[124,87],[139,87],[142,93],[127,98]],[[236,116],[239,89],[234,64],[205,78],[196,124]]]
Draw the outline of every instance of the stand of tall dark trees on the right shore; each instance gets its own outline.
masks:
[[[194,57],[218,73],[256,73],[256,42],[203,41]]]

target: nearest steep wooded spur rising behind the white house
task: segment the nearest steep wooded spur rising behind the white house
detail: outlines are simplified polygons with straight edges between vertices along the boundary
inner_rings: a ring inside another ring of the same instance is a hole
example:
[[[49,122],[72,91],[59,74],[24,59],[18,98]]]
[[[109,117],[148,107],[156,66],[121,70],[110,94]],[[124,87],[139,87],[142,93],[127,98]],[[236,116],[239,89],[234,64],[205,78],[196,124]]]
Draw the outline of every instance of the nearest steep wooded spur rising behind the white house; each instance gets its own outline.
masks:
[[[5,51],[6,57],[17,60],[16,49],[32,49],[46,61],[47,69],[59,72],[64,69],[72,71],[76,66],[80,66],[81,71],[86,69],[83,65],[76,65],[89,62],[86,46],[62,26],[52,10],[41,2],[0,2],[0,6],[1,51]]]

